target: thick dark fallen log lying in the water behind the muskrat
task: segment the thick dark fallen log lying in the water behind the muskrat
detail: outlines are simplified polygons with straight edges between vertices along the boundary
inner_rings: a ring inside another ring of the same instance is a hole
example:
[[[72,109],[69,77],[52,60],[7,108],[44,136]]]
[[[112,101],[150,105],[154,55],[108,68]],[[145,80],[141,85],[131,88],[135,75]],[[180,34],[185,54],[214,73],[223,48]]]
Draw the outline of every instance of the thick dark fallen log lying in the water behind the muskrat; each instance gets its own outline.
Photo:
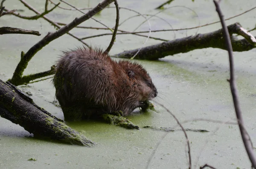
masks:
[[[229,25],[227,28],[229,30],[230,36],[232,34],[239,34],[245,37],[244,39],[237,39],[236,37],[232,37],[231,43],[233,45],[234,51],[249,51],[253,48],[256,48],[256,40],[254,40],[255,38],[253,36],[250,36],[249,38],[249,34],[245,33],[247,31],[242,28],[239,23]],[[218,31],[210,32],[207,34],[197,34],[195,36],[184,37],[156,45],[147,46],[140,50],[136,56],[136,59],[156,60],[165,56],[186,53],[195,49],[202,48],[220,48],[227,50],[222,35],[223,29],[219,29]],[[120,54],[113,55],[113,57],[131,58],[134,56],[134,54],[136,54],[137,51],[138,49],[124,51]]]

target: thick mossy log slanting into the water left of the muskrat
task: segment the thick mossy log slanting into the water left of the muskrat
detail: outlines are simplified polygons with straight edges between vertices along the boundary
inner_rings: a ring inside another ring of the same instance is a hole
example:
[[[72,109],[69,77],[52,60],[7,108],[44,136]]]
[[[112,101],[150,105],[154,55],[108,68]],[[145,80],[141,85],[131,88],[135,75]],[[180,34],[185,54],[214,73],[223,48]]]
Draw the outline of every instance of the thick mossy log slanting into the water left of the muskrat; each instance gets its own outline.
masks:
[[[69,144],[93,146],[95,143],[71,129],[61,119],[38,107],[11,83],[0,79],[0,116],[19,124],[34,136],[47,137]]]

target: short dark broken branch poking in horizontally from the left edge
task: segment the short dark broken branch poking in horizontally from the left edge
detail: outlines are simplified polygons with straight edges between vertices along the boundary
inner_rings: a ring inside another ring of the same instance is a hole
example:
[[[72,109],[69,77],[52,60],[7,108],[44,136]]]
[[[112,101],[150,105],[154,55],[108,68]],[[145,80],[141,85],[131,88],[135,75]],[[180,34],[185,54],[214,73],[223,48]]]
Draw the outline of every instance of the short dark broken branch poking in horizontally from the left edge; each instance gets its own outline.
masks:
[[[32,34],[40,36],[41,34],[38,31],[20,29],[20,28],[11,28],[11,27],[0,27],[0,35],[2,34]]]

